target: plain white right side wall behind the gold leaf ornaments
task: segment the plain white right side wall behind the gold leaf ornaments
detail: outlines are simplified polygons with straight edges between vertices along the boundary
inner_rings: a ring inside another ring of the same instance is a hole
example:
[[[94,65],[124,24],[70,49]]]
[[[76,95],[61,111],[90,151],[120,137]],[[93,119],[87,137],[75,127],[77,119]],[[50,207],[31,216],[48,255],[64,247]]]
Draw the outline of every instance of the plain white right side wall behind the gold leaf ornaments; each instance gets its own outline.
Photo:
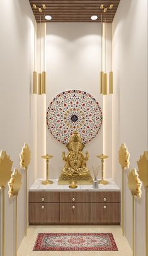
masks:
[[[147,151],[147,0],[121,0],[113,20],[113,170],[122,187],[118,149],[126,143],[130,168]],[[132,195],[125,179],[125,236],[132,247]],[[145,192],[135,203],[136,256],[145,255]],[[147,241],[148,243],[148,241]]]

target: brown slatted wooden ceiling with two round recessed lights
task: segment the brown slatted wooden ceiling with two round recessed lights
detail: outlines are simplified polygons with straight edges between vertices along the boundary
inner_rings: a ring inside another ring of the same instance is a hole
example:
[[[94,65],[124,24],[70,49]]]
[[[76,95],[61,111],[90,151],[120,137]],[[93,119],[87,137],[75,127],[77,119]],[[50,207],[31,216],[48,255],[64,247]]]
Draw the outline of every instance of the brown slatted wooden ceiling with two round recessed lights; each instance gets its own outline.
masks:
[[[37,22],[101,22],[113,21],[120,0],[29,0]],[[33,4],[35,4],[33,8]],[[45,9],[42,4],[45,4]],[[103,4],[103,9],[101,9]],[[110,9],[110,4],[113,8]],[[41,8],[40,12],[38,8]],[[104,9],[106,8],[106,12]],[[52,16],[52,20],[45,20],[45,15]],[[98,20],[91,20],[91,16],[98,16]]]

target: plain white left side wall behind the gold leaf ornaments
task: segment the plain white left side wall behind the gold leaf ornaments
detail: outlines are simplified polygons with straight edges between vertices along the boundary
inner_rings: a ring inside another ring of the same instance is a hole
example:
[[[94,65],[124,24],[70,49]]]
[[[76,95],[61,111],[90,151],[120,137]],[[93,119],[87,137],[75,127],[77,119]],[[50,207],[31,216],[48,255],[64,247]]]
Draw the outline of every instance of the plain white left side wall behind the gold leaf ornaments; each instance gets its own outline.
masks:
[[[30,93],[35,19],[29,1],[1,0],[1,6],[3,11],[0,22],[0,150],[10,155],[13,169],[20,168],[21,148],[24,143],[28,143],[31,149],[31,164],[28,168],[28,187],[30,187],[36,177],[36,125],[33,125],[36,118],[34,106],[36,100]],[[25,177],[23,171],[22,173],[22,187],[18,194],[18,246],[25,232]],[[5,255],[13,256],[14,199],[9,199],[8,187],[6,187],[5,201]]]

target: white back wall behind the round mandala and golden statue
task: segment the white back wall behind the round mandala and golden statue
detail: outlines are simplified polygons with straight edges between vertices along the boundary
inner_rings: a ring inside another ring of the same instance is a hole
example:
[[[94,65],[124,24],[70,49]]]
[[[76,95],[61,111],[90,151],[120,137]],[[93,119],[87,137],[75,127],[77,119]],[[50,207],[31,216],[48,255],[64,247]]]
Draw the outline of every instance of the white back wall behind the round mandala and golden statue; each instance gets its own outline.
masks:
[[[108,66],[110,69],[110,25],[107,26]],[[52,99],[65,90],[87,91],[100,103],[103,115],[105,107],[111,106],[111,96],[100,95],[99,74],[101,71],[101,24],[100,23],[47,23],[47,107]],[[104,103],[103,103],[104,101]],[[110,107],[109,107],[110,108]],[[107,116],[107,112],[106,112]],[[109,115],[111,129],[111,115]],[[106,120],[104,120],[105,124]],[[105,127],[105,126],[104,126]],[[111,144],[104,143],[103,126],[99,134],[88,144],[85,150],[89,151],[88,167],[100,165],[97,154],[108,154],[105,176],[111,177]],[[110,145],[110,146],[108,146]],[[50,161],[50,177],[59,178],[64,166],[62,151],[65,146],[50,134],[47,128],[47,153],[53,154]],[[109,164],[108,164],[109,163]],[[43,170],[38,170],[38,177],[45,177]]]

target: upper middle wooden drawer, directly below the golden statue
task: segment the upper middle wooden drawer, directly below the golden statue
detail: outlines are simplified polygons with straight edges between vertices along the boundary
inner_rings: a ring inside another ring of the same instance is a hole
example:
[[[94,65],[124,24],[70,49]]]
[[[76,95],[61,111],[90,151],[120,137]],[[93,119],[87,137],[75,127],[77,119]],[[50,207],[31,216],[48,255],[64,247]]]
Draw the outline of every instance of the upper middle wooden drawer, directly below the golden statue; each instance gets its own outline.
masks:
[[[89,192],[60,192],[60,202],[89,202]]]

